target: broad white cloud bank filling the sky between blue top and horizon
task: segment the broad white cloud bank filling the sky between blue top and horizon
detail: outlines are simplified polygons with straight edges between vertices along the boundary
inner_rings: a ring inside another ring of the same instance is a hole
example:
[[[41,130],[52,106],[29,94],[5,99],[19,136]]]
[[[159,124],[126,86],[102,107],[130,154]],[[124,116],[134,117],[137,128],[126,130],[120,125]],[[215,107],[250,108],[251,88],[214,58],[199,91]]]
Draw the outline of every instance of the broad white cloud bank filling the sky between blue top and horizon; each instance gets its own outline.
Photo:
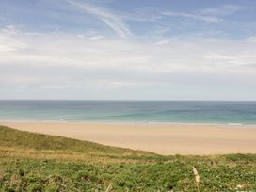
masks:
[[[95,36],[77,38],[76,34],[59,32],[38,36],[8,30],[13,29],[0,31],[1,44],[8,45],[0,49],[2,97],[7,94],[5,88],[27,88],[28,92],[37,88],[44,92],[67,90],[69,94],[76,90],[79,95],[87,90],[83,96],[92,92],[87,97],[92,99],[95,95],[106,99],[105,94],[111,98],[113,92],[106,93],[108,90],[121,90],[123,95],[120,93],[117,98],[127,98],[129,92],[125,91],[136,90],[135,98],[141,99],[142,95],[146,97],[142,90],[168,95],[173,89],[183,90],[181,97],[185,94],[186,99],[193,99],[184,89],[208,90],[216,85],[214,94],[226,85],[252,88],[256,82],[256,44],[248,40],[91,40]],[[163,46],[156,46],[157,43]],[[172,99],[179,99],[179,94],[175,93]]]

